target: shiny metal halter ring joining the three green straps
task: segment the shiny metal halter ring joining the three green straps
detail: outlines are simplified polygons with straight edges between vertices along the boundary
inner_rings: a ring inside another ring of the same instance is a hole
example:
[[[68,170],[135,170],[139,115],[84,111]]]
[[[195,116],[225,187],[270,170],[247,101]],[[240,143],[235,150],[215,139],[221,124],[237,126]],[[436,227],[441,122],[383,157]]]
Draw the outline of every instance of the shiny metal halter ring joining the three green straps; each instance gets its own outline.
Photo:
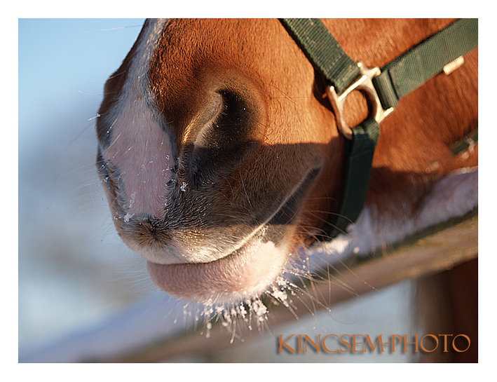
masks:
[[[388,116],[393,111],[393,107],[390,109],[383,109],[381,106],[380,99],[378,97],[378,93],[376,93],[376,89],[374,88],[372,79],[381,74],[379,67],[368,68],[362,62],[358,62],[358,67],[360,69],[361,75],[358,79],[356,79],[346,90],[341,93],[341,95],[337,95],[333,86],[328,86],[326,88],[326,93],[329,98],[329,102],[331,102],[332,107],[336,116],[336,124],[340,132],[347,139],[352,139],[352,129],[347,125],[345,121],[345,102],[347,100],[347,96],[353,90],[362,91],[367,98],[368,106],[372,109],[372,112],[369,113],[370,116],[374,116],[376,122],[380,123],[383,119]],[[368,117],[368,118],[369,118]]]

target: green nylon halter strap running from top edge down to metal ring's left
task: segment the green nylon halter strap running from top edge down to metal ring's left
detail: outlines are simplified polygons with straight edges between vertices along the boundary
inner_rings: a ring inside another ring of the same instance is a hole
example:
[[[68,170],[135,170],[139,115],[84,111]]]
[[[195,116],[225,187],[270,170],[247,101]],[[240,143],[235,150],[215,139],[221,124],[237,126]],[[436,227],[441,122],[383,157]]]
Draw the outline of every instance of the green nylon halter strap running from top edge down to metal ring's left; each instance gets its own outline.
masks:
[[[360,75],[358,64],[319,19],[280,19],[311,63],[340,94]]]

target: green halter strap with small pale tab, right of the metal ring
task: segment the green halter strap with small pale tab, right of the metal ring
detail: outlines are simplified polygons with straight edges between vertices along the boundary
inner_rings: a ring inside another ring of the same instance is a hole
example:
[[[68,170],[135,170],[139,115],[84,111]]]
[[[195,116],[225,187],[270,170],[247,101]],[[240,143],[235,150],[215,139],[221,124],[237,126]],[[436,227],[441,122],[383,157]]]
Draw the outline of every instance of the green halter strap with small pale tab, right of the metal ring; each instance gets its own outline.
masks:
[[[396,107],[404,95],[477,46],[478,20],[459,19],[386,64],[373,79],[383,109]]]

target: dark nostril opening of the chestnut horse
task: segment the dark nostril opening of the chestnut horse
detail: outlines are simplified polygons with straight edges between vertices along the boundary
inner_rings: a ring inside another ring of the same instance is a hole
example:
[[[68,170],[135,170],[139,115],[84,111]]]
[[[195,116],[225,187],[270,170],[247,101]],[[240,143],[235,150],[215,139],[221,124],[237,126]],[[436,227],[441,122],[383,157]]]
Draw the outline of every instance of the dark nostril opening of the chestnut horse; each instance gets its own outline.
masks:
[[[236,90],[223,89],[216,94],[216,102],[222,102],[215,118],[200,128],[185,150],[189,153],[185,164],[189,166],[187,176],[192,189],[229,174],[261,144],[256,137],[260,119],[257,102]]]

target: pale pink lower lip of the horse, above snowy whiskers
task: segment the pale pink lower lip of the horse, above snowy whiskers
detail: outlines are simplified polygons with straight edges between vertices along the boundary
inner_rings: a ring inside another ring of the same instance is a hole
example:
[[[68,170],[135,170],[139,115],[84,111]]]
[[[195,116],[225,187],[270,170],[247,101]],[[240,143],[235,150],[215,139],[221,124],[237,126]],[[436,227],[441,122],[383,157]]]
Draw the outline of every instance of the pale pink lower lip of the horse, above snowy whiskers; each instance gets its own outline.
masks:
[[[193,301],[232,301],[264,292],[280,275],[286,250],[274,243],[252,239],[240,250],[210,263],[155,264],[147,271],[157,287]]]

